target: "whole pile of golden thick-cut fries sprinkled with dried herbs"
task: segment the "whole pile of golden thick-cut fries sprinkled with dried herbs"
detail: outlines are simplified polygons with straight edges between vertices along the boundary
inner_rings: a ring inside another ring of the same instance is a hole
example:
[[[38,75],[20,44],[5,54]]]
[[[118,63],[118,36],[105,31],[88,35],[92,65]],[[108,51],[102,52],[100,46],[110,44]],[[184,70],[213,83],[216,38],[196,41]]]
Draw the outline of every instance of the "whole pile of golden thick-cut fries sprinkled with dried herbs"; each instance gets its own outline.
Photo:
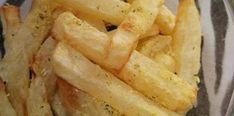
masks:
[[[33,0],[1,7],[0,116],[182,116],[196,104],[194,0]],[[108,29],[108,26],[112,28]]]

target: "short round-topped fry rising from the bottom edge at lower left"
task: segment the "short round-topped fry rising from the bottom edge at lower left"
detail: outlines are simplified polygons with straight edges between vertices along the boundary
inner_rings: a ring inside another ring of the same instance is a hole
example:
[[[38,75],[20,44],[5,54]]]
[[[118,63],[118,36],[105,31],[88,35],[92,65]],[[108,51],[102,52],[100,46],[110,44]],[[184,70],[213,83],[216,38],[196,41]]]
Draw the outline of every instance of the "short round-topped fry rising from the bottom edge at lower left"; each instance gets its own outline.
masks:
[[[47,101],[44,80],[37,77],[32,80],[27,98],[28,116],[53,116]]]

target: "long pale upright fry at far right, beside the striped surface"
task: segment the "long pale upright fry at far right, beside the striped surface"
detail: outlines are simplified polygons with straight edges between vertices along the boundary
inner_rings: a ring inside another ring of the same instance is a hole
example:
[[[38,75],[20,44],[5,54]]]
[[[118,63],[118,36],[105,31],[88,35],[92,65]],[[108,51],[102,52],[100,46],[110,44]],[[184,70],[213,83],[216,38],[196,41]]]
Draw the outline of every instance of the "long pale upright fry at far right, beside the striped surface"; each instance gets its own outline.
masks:
[[[201,23],[194,0],[182,0],[179,4],[176,26],[173,32],[173,50],[176,72],[179,77],[197,86],[194,78],[200,69]]]

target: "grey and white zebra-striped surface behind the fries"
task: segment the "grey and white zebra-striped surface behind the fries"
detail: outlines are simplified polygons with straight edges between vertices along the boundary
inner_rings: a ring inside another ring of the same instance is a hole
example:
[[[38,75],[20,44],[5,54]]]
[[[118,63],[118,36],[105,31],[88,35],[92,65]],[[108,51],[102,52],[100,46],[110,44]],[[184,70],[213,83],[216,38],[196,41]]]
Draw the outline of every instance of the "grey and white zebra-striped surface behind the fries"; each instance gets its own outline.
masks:
[[[31,0],[8,2],[21,5],[22,17],[31,5]],[[187,116],[234,116],[234,0],[196,2],[203,28],[201,83],[197,107]],[[176,13],[178,0],[166,0],[166,4]]]

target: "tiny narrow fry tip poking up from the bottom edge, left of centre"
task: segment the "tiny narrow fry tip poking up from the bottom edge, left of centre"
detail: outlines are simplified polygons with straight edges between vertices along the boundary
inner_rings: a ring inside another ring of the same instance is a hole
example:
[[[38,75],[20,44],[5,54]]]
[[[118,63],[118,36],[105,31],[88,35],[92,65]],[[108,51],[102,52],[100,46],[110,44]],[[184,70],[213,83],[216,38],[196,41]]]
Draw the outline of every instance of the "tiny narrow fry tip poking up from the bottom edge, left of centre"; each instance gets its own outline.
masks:
[[[68,115],[58,93],[54,95],[53,101],[51,103],[51,107],[55,116],[67,116]]]

